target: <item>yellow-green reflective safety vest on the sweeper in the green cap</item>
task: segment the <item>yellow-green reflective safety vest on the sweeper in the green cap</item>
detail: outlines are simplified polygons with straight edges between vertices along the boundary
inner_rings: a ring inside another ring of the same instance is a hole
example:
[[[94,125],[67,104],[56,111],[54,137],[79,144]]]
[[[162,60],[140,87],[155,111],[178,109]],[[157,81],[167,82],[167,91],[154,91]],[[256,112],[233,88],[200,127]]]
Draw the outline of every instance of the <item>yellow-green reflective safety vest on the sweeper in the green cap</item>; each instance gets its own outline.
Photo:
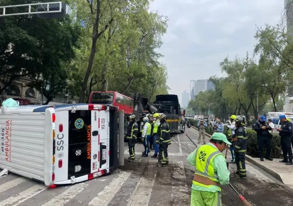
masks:
[[[210,145],[198,146],[195,149],[195,174],[203,176],[203,177],[208,177],[214,182],[219,182],[218,175],[217,173],[215,173],[213,169],[214,167],[212,165],[212,160],[217,155],[223,155],[218,148],[214,148]],[[204,186],[204,185],[201,184],[201,186]],[[206,187],[210,187],[210,186],[206,185]]]

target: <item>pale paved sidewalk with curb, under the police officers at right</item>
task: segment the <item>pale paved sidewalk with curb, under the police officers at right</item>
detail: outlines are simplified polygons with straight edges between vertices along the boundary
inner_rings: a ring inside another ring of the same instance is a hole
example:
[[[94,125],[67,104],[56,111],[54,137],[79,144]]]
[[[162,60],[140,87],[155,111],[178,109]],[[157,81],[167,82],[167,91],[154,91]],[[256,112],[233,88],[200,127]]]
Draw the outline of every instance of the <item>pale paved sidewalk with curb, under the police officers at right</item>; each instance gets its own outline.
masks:
[[[193,126],[192,128],[198,130]],[[206,137],[210,138],[211,135],[206,133]],[[285,165],[285,163],[279,162],[282,159],[274,159],[273,161],[264,160],[262,162],[260,158],[252,158],[249,155],[245,155],[245,160],[260,167],[262,170],[293,189],[293,165]]]

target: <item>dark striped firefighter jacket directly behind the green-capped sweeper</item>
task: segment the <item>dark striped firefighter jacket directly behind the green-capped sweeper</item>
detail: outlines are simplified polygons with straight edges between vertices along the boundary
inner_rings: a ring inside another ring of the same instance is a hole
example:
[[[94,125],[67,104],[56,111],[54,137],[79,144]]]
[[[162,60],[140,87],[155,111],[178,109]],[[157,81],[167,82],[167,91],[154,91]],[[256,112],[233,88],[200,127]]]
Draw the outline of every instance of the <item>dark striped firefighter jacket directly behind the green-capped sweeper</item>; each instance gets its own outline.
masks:
[[[233,146],[234,152],[238,153],[239,155],[245,155],[247,151],[247,143],[248,143],[248,134],[246,132],[246,129],[243,126],[238,127],[235,130],[236,135],[236,143]]]

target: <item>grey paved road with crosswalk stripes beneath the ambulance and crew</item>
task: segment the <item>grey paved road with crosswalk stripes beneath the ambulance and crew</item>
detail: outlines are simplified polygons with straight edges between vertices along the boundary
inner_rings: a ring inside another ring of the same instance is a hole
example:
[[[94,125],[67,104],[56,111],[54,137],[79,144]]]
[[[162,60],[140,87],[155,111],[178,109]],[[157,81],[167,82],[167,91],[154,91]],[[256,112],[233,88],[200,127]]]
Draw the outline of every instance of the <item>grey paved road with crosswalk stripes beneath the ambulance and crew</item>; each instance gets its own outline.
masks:
[[[197,138],[198,132],[194,129],[187,129],[186,133]],[[189,206],[194,168],[186,158],[194,149],[184,134],[172,135],[168,149],[170,164],[158,168],[157,160],[141,157],[143,146],[137,144],[137,160],[126,161],[114,174],[56,188],[9,174],[0,178],[0,206]],[[125,158],[128,158],[127,143]],[[231,165],[231,170],[234,167]],[[231,182],[254,205],[293,204],[293,193],[283,188],[277,179],[251,164],[247,164],[247,170],[247,180],[231,175]],[[222,191],[225,206],[241,205],[228,186],[222,187]]]

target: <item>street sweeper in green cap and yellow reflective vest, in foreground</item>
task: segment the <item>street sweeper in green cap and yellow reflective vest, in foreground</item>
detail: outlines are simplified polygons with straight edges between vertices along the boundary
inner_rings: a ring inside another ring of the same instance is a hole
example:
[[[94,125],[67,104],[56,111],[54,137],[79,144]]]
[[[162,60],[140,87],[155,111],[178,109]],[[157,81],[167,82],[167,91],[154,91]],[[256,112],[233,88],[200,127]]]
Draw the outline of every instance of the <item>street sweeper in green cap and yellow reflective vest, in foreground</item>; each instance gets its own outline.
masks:
[[[229,184],[230,172],[222,152],[231,145],[223,133],[212,134],[210,142],[199,145],[187,160],[195,165],[191,206],[222,206],[220,185]]]

